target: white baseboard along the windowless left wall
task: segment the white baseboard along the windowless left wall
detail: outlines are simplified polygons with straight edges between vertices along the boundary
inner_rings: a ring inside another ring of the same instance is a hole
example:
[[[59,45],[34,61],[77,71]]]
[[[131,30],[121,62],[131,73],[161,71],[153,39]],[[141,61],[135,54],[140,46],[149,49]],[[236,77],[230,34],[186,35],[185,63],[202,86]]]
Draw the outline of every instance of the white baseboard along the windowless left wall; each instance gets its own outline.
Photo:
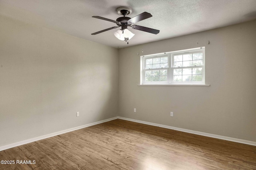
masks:
[[[32,138],[32,139],[27,139],[27,140],[24,140],[24,141],[20,141],[20,142],[12,143],[12,144],[9,144],[9,145],[5,145],[5,146],[0,147],[0,151],[6,150],[6,149],[10,149],[10,148],[13,148],[13,147],[18,147],[20,145],[24,145],[24,144],[27,144],[27,143],[39,141],[39,140],[42,140],[42,139],[46,139],[48,137],[54,137],[56,135],[61,135],[63,133],[68,133],[68,132],[71,132],[71,131],[76,131],[78,129],[82,129],[82,128],[85,128],[85,127],[89,127],[89,126],[93,126],[93,125],[98,125],[100,123],[104,123],[104,122],[111,121],[111,120],[114,120],[114,119],[118,119],[118,117],[113,117],[113,118],[110,118],[110,119],[105,119],[105,120],[102,120],[102,121],[97,121],[97,122],[94,122],[94,123],[89,123],[89,124],[86,124],[86,125],[82,125],[82,126],[66,129],[66,130],[63,130],[63,131],[58,131],[58,132],[50,133],[48,135],[43,135],[43,136],[40,136],[40,137],[35,137],[35,138]]]

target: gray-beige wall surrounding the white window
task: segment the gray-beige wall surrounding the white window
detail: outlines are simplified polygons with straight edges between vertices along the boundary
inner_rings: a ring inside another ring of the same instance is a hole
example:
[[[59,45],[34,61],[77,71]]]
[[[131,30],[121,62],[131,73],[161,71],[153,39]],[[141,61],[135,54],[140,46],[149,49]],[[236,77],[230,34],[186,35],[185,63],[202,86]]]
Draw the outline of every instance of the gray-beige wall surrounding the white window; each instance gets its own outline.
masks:
[[[256,20],[119,49],[119,116],[256,142],[255,28]],[[210,87],[137,86],[140,55],[203,46]]]

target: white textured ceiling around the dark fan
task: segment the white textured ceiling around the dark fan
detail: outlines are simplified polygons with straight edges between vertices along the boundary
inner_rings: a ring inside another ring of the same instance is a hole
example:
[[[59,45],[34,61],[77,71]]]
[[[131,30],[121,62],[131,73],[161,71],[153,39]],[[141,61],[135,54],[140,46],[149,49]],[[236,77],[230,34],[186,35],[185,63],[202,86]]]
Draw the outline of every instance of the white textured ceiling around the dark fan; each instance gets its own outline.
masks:
[[[153,17],[136,23],[159,29],[157,35],[128,28],[134,37],[120,41],[114,37],[119,28],[91,35],[116,26],[92,18],[116,20],[116,8],[127,6],[132,18],[142,12]],[[0,0],[0,14],[112,47],[128,47],[196,33],[256,19],[256,0]]]

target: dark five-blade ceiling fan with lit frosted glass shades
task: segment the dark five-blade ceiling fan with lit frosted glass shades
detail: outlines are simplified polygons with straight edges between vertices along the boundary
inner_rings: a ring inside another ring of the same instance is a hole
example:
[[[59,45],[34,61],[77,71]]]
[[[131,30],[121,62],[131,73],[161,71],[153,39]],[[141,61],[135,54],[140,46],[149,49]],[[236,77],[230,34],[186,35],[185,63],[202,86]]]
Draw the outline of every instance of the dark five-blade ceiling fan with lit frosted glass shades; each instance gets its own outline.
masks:
[[[105,32],[105,31],[108,31],[108,30],[111,30],[111,29],[121,27],[121,29],[114,32],[114,35],[122,41],[124,41],[124,40],[127,41],[127,40],[131,39],[134,36],[134,34],[127,29],[128,26],[132,27],[133,29],[137,29],[137,30],[140,30],[140,31],[145,31],[145,32],[148,32],[148,33],[153,33],[153,34],[158,34],[159,33],[159,30],[157,30],[157,29],[143,27],[143,26],[140,26],[140,25],[132,25],[132,24],[134,24],[138,21],[142,21],[142,20],[145,20],[147,18],[152,17],[152,15],[148,12],[143,12],[143,13],[141,13],[141,14],[133,17],[133,18],[126,17],[126,15],[132,13],[132,10],[130,8],[119,7],[119,8],[116,9],[116,12],[123,16],[123,17],[117,18],[116,21],[115,20],[110,20],[108,18],[103,18],[103,17],[100,17],[100,16],[92,16],[92,18],[98,18],[100,20],[114,22],[114,23],[116,23],[116,25],[118,25],[118,26],[115,26],[115,27],[111,27],[111,28],[107,28],[107,29],[98,31],[96,33],[92,33],[92,35],[96,35],[98,33],[102,33],[102,32]]]

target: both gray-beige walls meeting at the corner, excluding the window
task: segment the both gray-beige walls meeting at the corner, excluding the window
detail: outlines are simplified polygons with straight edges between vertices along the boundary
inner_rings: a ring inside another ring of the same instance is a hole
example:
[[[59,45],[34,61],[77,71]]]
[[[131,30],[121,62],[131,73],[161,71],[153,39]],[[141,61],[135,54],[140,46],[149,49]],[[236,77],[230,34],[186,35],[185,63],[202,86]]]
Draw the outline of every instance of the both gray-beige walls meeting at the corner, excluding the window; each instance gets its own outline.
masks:
[[[0,146],[117,115],[256,141],[256,20],[119,50],[0,23]],[[140,55],[202,46],[210,87],[137,86]]]

